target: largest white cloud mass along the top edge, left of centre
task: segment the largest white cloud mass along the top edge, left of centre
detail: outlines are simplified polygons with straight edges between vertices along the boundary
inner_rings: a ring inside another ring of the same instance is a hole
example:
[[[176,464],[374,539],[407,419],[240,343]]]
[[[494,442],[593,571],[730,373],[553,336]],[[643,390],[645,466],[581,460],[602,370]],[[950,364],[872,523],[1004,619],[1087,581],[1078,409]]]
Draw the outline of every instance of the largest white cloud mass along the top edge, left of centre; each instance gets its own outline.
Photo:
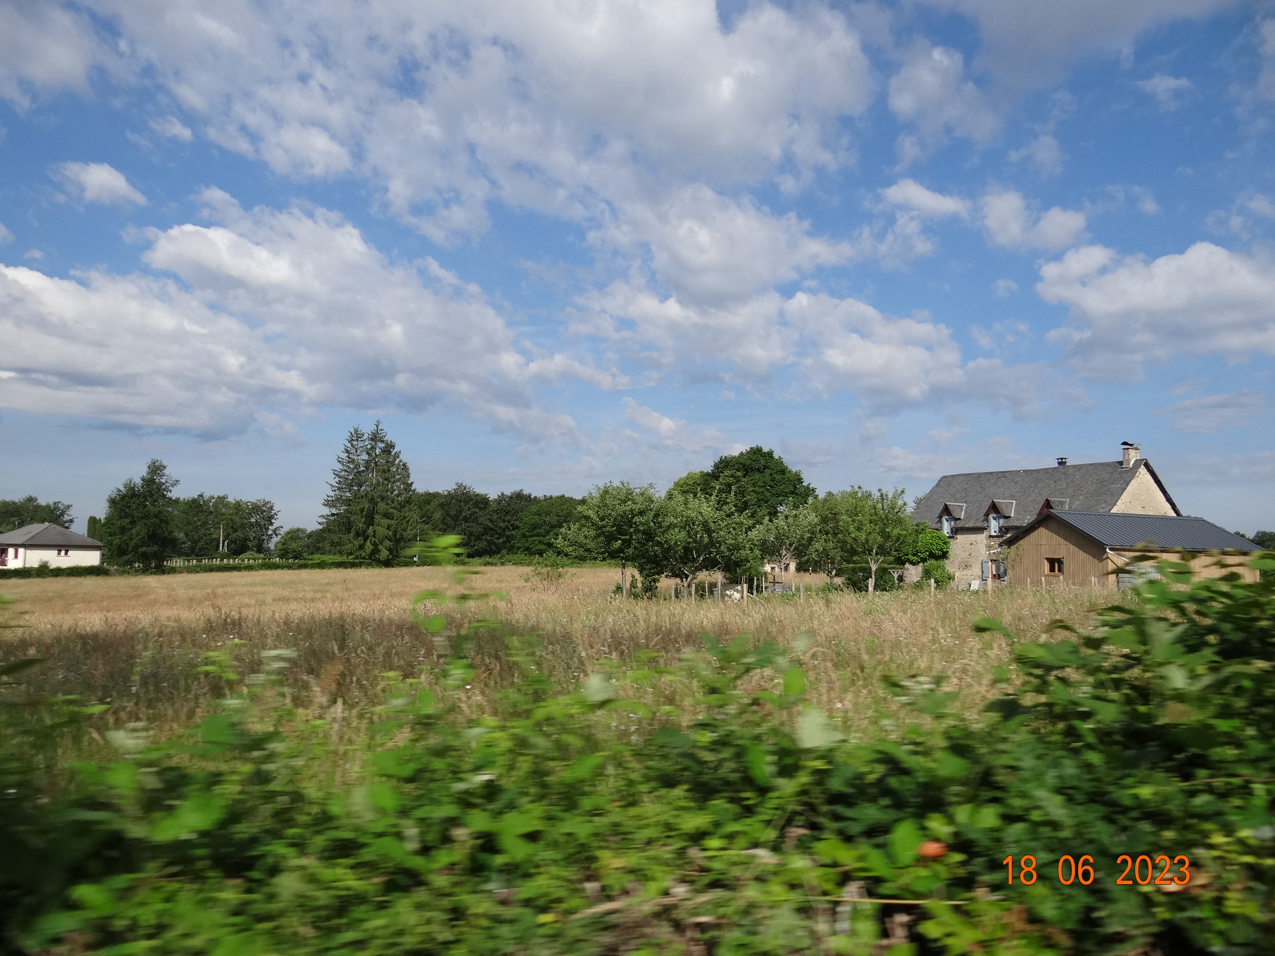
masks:
[[[852,154],[875,96],[840,13],[711,0],[440,0],[292,9],[96,0],[147,70],[227,149],[297,178],[370,177],[440,241],[499,200],[604,221],[686,178],[801,189]]]

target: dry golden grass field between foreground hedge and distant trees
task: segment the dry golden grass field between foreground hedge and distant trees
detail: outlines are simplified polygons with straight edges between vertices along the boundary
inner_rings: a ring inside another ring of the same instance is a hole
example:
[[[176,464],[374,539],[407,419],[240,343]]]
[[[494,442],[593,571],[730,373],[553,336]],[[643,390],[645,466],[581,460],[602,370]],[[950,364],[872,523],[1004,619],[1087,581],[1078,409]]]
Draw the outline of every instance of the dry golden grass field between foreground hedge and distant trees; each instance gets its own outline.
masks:
[[[33,688],[108,702],[108,725],[176,728],[226,692],[223,679],[198,670],[209,653],[226,654],[235,673],[246,676],[261,668],[263,651],[288,650],[288,686],[347,709],[375,700],[386,672],[430,683],[449,653],[463,653],[474,665],[464,710],[479,715],[497,707],[500,691],[516,679],[509,660],[515,635],[534,637],[537,669],[567,691],[599,668],[622,670],[636,659],[674,664],[701,649],[705,634],[785,645],[808,634],[802,655],[808,695],[854,729],[880,719],[887,676],[946,674],[961,706],[977,709],[991,690],[992,668],[1011,659],[1002,636],[972,631],[977,618],[998,617],[1029,637],[1053,619],[1084,625],[1103,599],[1086,590],[1003,590],[715,603],[671,600],[666,588],[659,600],[625,602],[611,597],[613,569],[567,571],[561,581],[537,580],[521,567],[474,570],[459,586],[437,567],[11,581],[5,584],[15,598],[10,617],[22,626],[0,631],[0,660],[42,658],[28,672]],[[426,602],[448,621],[431,637],[411,616],[412,597],[426,589],[500,594],[464,604]],[[694,692],[678,681],[643,691],[653,705],[682,707]]]

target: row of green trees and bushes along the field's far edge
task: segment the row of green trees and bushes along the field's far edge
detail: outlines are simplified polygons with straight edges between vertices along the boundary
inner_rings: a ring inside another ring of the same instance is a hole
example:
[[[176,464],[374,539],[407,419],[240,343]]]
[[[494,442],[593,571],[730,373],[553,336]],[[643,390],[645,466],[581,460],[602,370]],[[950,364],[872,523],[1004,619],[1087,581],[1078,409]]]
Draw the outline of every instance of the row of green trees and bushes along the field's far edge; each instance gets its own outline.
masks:
[[[799,470],[761,446],[723,455],[663,493],[650,484],[607,482],[583,498],[521,489],[490,496],[459,482],[448,491],[418,491],[377,421],[370,431],[354,426],[347,435],[312,530],[284,532],[266,498],[184,498],[173,495],[177,484],[167,465],[152,459],[140,478],[110,493],[105,516],[88,519],[88,535],[103,543],[107,563],[158,570],[173,557],[273,554],[390,565],[422,542],[454,534],[476,558],[555,554],[618,562],[626,595],[649,594],[666,576],[686,586],[703,575],[733,583],[770,562],[867,590],[892,584],[882,569],[905,563],[922,565],[923,577],[947,580],[949,542],[912,520],[901,488],[856,486],[820,496]],[[0,501],[0,532],[38,521],[70,528],[71,506],[33,496]],[[1251,540],[1272,547],[1275,533],[1257,532]]]

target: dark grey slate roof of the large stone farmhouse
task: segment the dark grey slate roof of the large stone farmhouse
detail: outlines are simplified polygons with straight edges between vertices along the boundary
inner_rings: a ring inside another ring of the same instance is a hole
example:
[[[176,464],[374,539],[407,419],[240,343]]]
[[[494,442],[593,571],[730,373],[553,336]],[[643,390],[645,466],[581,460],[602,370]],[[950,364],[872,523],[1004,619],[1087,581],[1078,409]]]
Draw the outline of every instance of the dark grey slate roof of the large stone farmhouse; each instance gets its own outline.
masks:
[[[945,474],[913,509],[913,518],[941,529],[938,516],[945,505],[956,519],[956,528],[983,528],[994,500],[1005,515],[1006,530],[1023,528],[1040,512],[1048,500],[1056,511],[1111,511],[1130,482],[1145,469],[1155,481],[1174,512],[1181,515],[1151,463],[1137,459],[1132,468],[1121,461],[1091,461],[1054,468],[1025,468],[1017,472],[969,472]],[[964,507],[956,507],[964,505]]]

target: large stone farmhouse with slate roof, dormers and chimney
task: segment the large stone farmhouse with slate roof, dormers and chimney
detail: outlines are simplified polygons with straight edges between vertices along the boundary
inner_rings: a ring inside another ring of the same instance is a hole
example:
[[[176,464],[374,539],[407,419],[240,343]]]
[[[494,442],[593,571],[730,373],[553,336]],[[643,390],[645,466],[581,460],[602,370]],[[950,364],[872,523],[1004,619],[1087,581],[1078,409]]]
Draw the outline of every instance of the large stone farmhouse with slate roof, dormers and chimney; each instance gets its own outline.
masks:
[[[989,588],[1009,579],[1006,538],[1048,511],[1182,514],[1141,449],[1126,441],[1118,461],[1070,465],[1060,458],[1054,468],[945,474],[913,518],[951,539],[955,586]]]

